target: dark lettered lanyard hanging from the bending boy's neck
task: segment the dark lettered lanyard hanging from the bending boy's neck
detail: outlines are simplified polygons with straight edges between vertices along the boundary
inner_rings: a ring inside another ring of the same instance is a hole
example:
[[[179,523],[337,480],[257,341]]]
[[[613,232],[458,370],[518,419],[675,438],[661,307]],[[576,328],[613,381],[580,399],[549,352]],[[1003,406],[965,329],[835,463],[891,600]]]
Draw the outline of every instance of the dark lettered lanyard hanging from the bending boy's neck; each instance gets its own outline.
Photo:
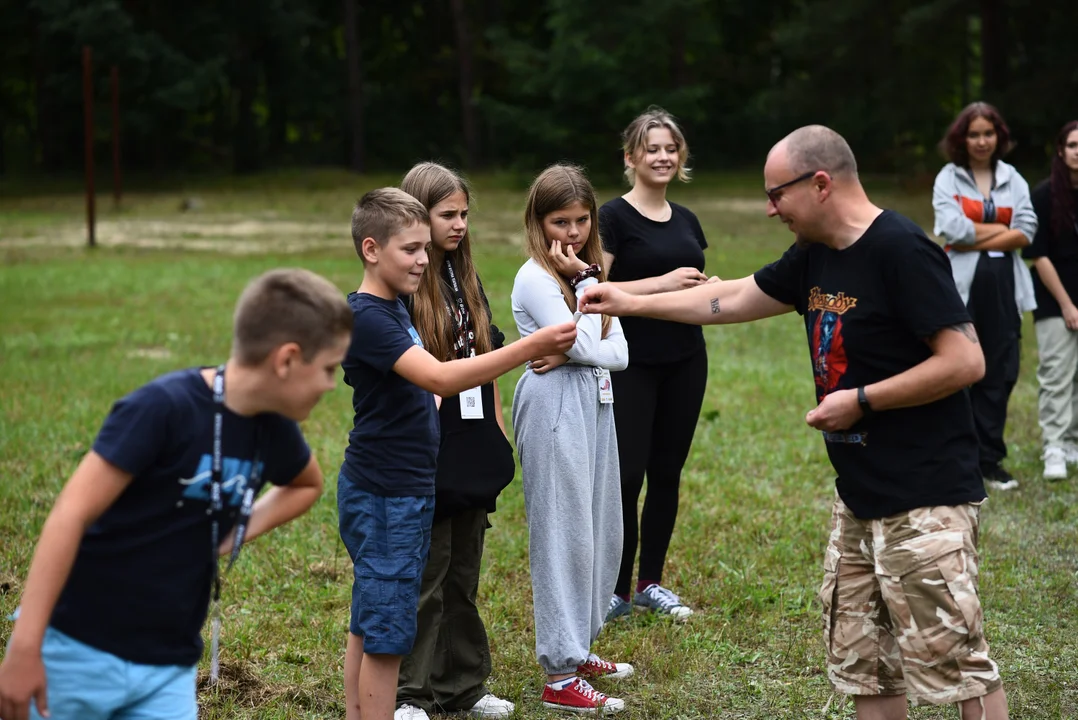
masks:
[[[217,682],[220,675],[219,652],[221,645],[221,569],[218,564],[218,548],[221,545],[221,517],[224,515],[224,502],[221,500],[221,474],[223,457],[221,451],[221,426],[224,425],[224,365],[217,369],[213,376],[213,463],[210,466],[210,557],[213,567],[213,632],[210,642],[209,680]],[[251,476],[247,481],[244,490],[244,500],[239,504],[239,514],[236,517],[236,539],[232,543],[232,555],[229,557],[229,566],[225,572],[232,569],[239,551],[244,546],[244,537],[247,535],[247,524],[251,520],[251,509],[254,507],[254,496],[258,494],[262,480],[262,426],[255,425],[254,429],[254,454],[251,458]]]

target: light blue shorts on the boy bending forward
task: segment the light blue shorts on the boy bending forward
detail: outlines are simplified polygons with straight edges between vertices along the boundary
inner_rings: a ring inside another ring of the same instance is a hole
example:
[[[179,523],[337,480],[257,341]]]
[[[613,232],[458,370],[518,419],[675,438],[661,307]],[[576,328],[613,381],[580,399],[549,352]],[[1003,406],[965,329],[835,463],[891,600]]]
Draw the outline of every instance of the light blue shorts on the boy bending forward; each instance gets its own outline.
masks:
[[[51,720],[197,720],[195,666],[128,663],[52,627],[41,657]]]

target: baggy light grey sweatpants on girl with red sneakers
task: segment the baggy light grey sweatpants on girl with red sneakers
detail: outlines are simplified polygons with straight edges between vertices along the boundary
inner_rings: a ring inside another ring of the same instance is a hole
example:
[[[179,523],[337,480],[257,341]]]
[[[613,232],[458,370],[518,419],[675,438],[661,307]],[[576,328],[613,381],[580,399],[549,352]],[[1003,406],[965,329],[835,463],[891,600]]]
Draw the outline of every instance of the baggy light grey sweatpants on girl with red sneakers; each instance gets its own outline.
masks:
[[[613,405],[599,403],[593,368],[527,370],[516,384],[513,430],[528,515],[536,656],[548,675],[576,673],[603,627],[621,565]]]

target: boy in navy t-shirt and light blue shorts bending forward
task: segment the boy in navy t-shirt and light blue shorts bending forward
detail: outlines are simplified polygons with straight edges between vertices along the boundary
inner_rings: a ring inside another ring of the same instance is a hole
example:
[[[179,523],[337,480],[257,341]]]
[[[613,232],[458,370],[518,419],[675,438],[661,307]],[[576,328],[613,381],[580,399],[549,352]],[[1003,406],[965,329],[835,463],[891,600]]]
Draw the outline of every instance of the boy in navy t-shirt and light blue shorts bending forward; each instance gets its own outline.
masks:
[[[195,720],[218,556],[235,556],[245,525],[239,545],[321,495],[296,423],[333,388],[350,331],[332,283],[273,271],[237,303],[226,364],[113,405],[41,531],[0,718]],[[263,483],[274,487],[251,508]]]

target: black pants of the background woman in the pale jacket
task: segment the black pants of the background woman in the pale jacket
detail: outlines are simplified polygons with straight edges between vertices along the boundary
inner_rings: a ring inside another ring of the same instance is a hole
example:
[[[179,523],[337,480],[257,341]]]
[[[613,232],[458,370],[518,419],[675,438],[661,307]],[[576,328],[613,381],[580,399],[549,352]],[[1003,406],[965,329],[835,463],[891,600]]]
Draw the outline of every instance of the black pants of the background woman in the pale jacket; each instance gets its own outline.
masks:
[[[1014,301],[1014,259],[981,252],[966,307],[984,351],[984,377],[969,389],[981,469],[989,471],[1007,457],[1004,427],[1007,402],[1018,382],[1022,316]]]

